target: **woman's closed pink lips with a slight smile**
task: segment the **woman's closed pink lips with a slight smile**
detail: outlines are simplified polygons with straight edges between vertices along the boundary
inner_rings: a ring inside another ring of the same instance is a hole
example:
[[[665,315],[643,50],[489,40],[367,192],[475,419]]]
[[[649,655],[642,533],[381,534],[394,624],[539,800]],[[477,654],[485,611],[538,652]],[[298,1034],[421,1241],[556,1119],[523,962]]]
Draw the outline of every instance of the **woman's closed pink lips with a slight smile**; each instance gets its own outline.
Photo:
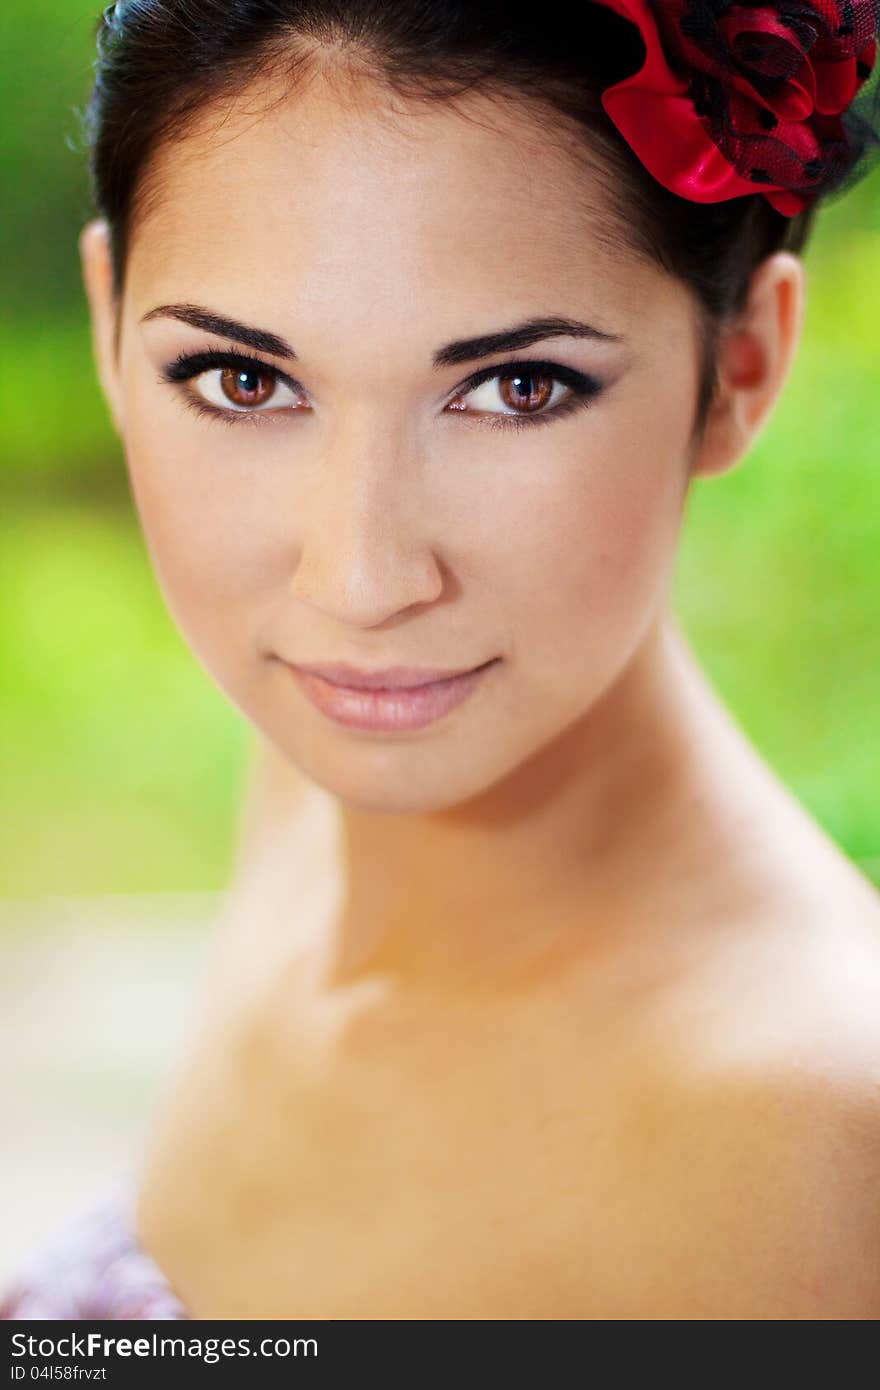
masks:
[[[314,667],[289,666],[300,689],[309,696],[313,705],[324,714],[328,714],[338,724],[348,728],[389,730],[392,733],[423,728],[434,723],[441,714],[446,714],[478,685],[481,677],[489,667],[498,663],[499,657],[485,662],[470,671],[453,674],[413,670],[412,667],[392,667],[388,671],[353,671],[353,667],[323,666]],[[348,680],[367,681],[370,684],[342,684],[328,678],[325,673],[338,671]],[[353,673],[353,674],[352,674]],[[403,680],[414,681],[405,685]],[[378,684],[380,681],[396,684]]]

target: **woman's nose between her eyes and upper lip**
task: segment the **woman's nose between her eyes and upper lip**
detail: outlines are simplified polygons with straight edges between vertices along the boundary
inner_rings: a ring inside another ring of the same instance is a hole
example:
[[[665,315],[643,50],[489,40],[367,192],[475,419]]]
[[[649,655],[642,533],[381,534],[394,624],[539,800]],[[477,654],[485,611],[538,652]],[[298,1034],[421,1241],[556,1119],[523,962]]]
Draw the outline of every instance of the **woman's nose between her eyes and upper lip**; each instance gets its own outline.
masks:
[[[421,485],[402,427],[375,417],[339,421],[298,513],[293,595],[352,627],[439,598],[443,577]]]

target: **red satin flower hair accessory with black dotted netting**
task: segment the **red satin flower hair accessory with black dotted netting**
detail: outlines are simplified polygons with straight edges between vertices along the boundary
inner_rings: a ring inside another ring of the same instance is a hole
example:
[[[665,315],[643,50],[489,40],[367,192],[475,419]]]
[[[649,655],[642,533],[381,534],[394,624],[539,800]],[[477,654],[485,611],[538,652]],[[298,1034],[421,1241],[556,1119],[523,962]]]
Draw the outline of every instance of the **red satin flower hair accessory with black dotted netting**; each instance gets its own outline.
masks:
[[[847,110],[874,68],[880,0],[599,3],[646,50],[602,106],[670,192],[696,203],[760,192],[794,217],[880,143],[870,115]]]

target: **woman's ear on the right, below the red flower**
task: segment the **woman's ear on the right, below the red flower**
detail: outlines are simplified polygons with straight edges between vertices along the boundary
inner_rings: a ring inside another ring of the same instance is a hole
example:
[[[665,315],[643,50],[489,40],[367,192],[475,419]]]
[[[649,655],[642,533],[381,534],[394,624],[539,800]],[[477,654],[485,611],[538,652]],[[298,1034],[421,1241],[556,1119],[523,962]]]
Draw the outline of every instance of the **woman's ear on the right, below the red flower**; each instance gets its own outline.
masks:
[[[747,304],[722,332],[719,389],[691,477],[726,473],[753,445],[794,363],[805,302],[806,272],[792,252],[774,252],[752,272]]]

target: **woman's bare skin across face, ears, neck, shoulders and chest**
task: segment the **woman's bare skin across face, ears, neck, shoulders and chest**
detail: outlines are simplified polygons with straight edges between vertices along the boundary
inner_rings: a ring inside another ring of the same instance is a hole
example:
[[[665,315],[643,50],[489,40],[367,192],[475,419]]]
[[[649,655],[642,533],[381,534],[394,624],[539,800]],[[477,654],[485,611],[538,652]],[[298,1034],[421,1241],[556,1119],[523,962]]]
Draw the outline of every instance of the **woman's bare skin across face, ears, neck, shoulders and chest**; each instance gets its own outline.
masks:
[[[694,442],[694,303],[574,132],[329,58],[260,83],[158,152],[120,306],[81,236],[158,582],[256,734],[146,1250],[196,1318],[879,1316],[880,902],[667,607],[690,485],[791,368],[801,260],[755,274]],[[168,304],[284,336],[257,356],[296,388],[189,410],[220,373],[160,371],[229,345],[142,321]],[[500,378],[456,395],[485,361],[431,366],[548,314],[621,341],[489,361],[594,375],[584,410],[494,427]],[[281,660],[492,656],[405,735]]]

